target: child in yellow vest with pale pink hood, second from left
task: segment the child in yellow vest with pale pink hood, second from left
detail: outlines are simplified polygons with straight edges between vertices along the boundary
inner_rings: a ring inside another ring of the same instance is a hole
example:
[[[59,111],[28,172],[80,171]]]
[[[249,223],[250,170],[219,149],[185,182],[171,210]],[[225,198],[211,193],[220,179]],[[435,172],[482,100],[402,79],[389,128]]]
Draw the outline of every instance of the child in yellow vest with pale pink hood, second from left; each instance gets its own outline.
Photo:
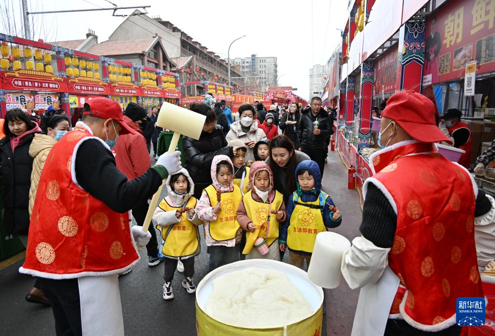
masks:
[[[201,193],[196,211],[204,222],[204,238],[209,247],[210,271],[239,261],[241,227],[236,210],[242,199],[241,189],[234,185],[234,166],[227,155],[216,155],[211,162],[213,183]]]

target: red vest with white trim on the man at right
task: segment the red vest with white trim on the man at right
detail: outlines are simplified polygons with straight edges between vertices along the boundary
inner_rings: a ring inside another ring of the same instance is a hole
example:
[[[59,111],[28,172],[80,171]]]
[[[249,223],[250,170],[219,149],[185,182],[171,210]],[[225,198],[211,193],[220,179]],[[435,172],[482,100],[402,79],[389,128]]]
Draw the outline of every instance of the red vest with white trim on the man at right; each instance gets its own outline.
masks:
[[[432,144],[415,143],[373,157],[375,185],[397,212],[389,266],[400,285],[391,318],[428,331],[456,323],[458,297],[483,297],[471,177],[432,152]]]

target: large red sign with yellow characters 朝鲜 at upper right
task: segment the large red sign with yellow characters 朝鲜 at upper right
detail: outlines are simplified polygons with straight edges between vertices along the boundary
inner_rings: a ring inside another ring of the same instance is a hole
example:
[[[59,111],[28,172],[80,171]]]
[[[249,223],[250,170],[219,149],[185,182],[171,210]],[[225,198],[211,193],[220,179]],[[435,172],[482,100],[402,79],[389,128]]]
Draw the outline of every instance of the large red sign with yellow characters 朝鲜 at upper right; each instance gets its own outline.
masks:
[[[495,71],[495,0],[448,1],[426,23],[424,81],[460,79],[476,60],[477,73]]]

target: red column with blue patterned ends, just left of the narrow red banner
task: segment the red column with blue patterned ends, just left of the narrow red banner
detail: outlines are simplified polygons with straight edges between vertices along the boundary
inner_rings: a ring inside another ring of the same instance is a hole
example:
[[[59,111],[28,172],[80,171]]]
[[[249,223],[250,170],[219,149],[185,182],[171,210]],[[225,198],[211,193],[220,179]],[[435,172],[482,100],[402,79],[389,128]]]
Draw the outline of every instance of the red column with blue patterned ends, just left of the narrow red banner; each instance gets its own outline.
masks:
[[[361,118],[359,120],[358,150],[370,146],[374,77],[373,62],[363,62],[361,64],[361,105],[359,106]]]

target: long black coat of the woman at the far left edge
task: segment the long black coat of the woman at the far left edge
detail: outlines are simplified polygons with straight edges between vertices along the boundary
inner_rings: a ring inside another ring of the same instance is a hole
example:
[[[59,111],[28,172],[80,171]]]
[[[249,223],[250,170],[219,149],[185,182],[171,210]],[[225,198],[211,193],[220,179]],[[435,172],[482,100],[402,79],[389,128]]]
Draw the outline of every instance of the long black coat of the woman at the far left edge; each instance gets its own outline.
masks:
[[[0,141],[0,183],[3,192],[3,223],[7,235],[27,235],[29,230],[29,188],[33,158],[29,146],[34,134],[28,134],[12,153],[10,138]]]

